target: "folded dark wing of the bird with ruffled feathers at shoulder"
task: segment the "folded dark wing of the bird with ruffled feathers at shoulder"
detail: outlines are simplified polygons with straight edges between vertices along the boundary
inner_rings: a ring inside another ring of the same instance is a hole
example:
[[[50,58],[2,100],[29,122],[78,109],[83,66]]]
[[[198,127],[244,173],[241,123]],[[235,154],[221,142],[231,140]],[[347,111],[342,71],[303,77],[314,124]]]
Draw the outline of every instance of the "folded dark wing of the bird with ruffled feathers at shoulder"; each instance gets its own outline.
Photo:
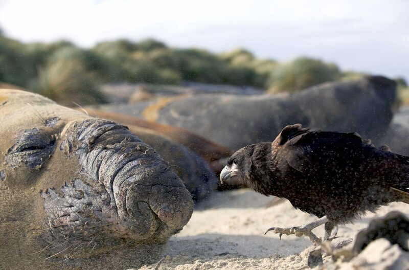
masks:
[[[323,181],[409,186],[409,158],[390,152],[389,147],[375,148],[357,133],[300,130],[301,125],[290,127],[293,130],[281,133],[290,136],[280,139],[284,144],[279,147],[277,157],[304,175]]]

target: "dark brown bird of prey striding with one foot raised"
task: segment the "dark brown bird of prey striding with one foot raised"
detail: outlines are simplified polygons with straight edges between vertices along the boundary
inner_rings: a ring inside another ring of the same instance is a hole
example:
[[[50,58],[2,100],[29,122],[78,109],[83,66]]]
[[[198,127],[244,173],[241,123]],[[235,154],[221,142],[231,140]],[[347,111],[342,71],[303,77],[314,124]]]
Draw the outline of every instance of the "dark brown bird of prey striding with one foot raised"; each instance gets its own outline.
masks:
[[[270,228],[281,235],[308,236],[325,224],[324,240],[338,224],[376,211],[392,201],[409,204],[409,157],[374,147],[357,133],[284,127],[271,143],[248,145],[234,153],[220,174],[236,177],[264,195],[288,199],[319,219],[299,227]],[[336,231],[336,230],[335,230]],[[266,233],[267,233],[266,232]]]

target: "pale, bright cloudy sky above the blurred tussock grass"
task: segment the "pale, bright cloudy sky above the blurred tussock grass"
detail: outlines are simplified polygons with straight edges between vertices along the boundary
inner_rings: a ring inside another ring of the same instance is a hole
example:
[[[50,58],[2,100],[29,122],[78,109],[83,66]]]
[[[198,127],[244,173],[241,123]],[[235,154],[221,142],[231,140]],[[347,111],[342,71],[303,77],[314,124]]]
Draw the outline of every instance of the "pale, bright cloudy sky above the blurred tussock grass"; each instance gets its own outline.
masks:
[[[155,38],[278,61],[310,56],[409,80],[406,0],[0,0],[0,28],[25,42],[66,39],[84,48]]]

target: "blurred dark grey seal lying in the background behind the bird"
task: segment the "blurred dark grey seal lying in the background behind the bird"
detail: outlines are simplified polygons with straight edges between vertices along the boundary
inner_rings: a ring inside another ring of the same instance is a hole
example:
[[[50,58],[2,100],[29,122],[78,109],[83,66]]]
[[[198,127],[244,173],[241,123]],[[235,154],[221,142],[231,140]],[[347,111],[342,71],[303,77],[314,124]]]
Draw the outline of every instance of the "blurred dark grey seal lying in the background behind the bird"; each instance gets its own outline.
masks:
[[[356,130],[381,138],[392,119],[395,82],[380,76],[314,86],[297,94],[196,95],[104,107],[182,127],[231,149],[270,141],[283,126]],[[229,134],[229,136],[226,136]]]

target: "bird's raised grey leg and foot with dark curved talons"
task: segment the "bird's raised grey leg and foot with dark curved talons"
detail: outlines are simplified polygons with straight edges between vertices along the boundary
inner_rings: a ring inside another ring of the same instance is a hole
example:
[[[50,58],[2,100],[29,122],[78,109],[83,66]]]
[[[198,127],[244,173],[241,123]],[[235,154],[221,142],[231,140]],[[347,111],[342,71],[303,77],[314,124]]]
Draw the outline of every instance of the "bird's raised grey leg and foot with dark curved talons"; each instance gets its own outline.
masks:
[[[329,219],[327,218],[327,216],[323,216],[323,217],[321,217],[319,219],[316,219],[316,220],[314,220],[314,221],[312,221],[310,223],[304,224],[304,225],[299,226],[299,227],[291,227],[291,228],[272,227],[272,228],[268,229],[265,232],[265,234],[268,233],[269,231],[273,231],[274,233],[280,234],[280,239],[281,239],[281,236],[283,234],[285,234],[285,235],[294,234],[294,235],[296,235],[298,237],[304,235],[304,236],[308,236],[312,242],[318,243],[318,242],[321,242],[321,239],[316,237],[316,235],[313,234],[311,231],[313,229],[315,229],[316,227],[321,226],[322,224],[324,224],[324,223],[326,223],[328,221],[329,221]],[[330,233],[332,231],[332,228],[333,228],[333,226],[331,227]],[[327,231],[326,231],[326,233],[327,233]]]

